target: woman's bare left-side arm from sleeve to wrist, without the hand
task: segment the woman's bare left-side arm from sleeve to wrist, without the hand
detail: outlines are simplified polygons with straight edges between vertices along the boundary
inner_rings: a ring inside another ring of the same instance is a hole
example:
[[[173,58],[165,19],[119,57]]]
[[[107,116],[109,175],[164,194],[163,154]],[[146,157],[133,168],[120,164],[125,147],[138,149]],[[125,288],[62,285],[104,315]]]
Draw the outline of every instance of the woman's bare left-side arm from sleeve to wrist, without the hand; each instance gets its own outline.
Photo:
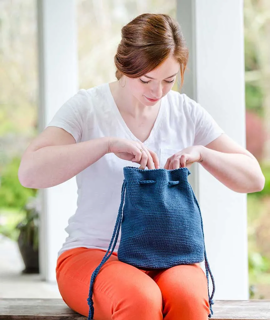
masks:
[[[107,137],[76,143],[72,135],[47,127],[26,149],[18,171],[26,188],[49,188],[74,177],[108,152]]]

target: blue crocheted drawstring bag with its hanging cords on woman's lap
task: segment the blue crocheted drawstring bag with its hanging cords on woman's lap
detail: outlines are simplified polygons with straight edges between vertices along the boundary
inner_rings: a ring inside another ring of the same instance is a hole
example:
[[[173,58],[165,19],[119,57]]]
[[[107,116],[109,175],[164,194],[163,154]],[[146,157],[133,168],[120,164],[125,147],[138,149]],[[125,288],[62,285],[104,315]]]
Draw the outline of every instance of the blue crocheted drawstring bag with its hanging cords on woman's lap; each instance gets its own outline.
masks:
[[[118,259],[134,267],[164,269],[205,260],[211,317],[215,283],[205,251],[201,212],[188,182],[189,174],[187,168],[141,170],[124,167],[121,204],[113,236],[104,258],[91,276],[88,320],[94,316],[94,280],[114,251],[120,227]],[[213,284],[211,297],[208,272]]]

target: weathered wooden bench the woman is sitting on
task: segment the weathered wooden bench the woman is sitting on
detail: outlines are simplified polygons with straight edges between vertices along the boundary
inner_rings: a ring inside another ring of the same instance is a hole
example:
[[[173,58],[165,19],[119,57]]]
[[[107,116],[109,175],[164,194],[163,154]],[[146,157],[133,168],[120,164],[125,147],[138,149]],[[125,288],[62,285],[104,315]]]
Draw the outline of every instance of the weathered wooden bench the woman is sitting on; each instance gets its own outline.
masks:
[[[270,300],[215,301],[213,311],[213,320],[270,320]],[[62,299],[0,299],[0,320],[41,319],[85,320],[87,317],[72,311]]]

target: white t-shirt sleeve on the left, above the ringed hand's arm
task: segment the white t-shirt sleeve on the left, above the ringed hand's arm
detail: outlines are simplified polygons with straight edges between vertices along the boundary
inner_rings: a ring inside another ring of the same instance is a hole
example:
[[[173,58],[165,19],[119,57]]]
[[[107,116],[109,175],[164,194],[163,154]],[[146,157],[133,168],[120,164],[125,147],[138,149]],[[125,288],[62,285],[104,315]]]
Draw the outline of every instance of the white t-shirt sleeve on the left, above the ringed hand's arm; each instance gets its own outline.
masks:
[[[89,98],[85,89],[79,90],[55,113],[47,127],[55,126],[70,133],[80,142],[84,125],[89,114]]]

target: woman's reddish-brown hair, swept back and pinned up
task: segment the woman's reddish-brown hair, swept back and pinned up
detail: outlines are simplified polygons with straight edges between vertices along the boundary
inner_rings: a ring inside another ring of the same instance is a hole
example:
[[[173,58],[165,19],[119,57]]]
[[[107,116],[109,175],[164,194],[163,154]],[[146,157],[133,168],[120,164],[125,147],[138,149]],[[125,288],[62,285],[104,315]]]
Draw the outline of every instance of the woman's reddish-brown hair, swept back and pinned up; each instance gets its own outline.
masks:
[[[167,14],[144,13],[122,28],[122,40],[114,56],[117,80],[138,78],[160,66],[169,56],[180,64],[181,85],[188,62],[179,23]]]

